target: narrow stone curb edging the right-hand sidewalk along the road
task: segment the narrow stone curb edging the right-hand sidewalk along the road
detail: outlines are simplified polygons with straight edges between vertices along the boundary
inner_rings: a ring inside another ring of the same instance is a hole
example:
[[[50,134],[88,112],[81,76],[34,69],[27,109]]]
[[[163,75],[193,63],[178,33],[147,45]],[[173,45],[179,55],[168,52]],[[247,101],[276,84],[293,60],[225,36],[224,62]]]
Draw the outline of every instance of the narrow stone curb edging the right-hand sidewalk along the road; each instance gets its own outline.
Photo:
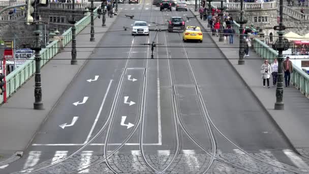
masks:
[[[190,9],[190,11],[195,14],[195,13],[198,13],[198,12],[194,12],[192,9]],[[197,21],[201,24],[201,26],[203,28],[207,28],[207,24],[203,24],[200,19],[198,17],[196,17]],[[228,63],[231,65],[231,67],[235,70],[235,72],[237,73],[237,75],[241,78],[241,80],[243,81],[243,83],[245,84],[245,86],[249,89],[249,91],[253,94],[253,96],[257,99],[257,101],[259,102],[259,104],[262,106],[262,108],[265,110],[265,112],[268,114],[270,120],[274,123],[274,125],[277,127],[277,129],[279,131],[282,132],[282,134],[284,135],[284,138],[287,140],[287,142],[290,144],[290,146],[292,147],[293,151],[296,152],[297,154],[299,155],[302,155],[304,154],[302,152],[302,148],[307,148],[307,147],[299,147],[297,146],[297,144],[294,143],[294,137],[291,137],[290,136],[290,133],[288,132],[287,129],[285,129],[285,126],[282,126],[282,123],[278,122],[278,119],[276,119],[274,117],[274,114],[272,113],[273,111],[270,111],[269,110],[269,107],[267,107],[265,105],[265,103],[262,101],[262,99],[260,97],[258,97],[259,95],[256,93],[256,91],[251,87],[251,85],[248,83],[248,80],[246,80],[244,77],[243,77],[243,73],[241,73],[241,71],[239,70],[239,68],[241,67],[236,67],[235,63],[232,62],[234,60],[231,60],[229,57],[232,57],[234,58],[235,55],[227,55],[226,51],[219,47],[218,43],[219,41],[215,41],[214,38],[211,36],[210,33],[208,33],[208,35],[210,36],[210,38],[212,39],[212,41],[217,45],[217,47],[220,49],[220,51],[222,52],[222,54],[225,56],[225,58],[227,59]],[[219,38],[219,37],[218,37]],[[234,36],[235,38],[235,36]],[[234,42],[235,42],[235,39],[234,39]],[[223,43],[223,42],[222,42]],[[228,44],[227,44],[228,45]],[[253,50],[251,50],[252,52],[254,52]],[[236,57],[238,58],[238,51],[234,50],[233,51],[235,54],[236,54]],[[236,53],[237,52],[237,53]],[[236,60],[237,61],[237,60]],[[262,61],[261,61],[261,65],[262,65]],[[274,104],[274,103],[273,103]],[[305,157],[305,156],[304,156]]]

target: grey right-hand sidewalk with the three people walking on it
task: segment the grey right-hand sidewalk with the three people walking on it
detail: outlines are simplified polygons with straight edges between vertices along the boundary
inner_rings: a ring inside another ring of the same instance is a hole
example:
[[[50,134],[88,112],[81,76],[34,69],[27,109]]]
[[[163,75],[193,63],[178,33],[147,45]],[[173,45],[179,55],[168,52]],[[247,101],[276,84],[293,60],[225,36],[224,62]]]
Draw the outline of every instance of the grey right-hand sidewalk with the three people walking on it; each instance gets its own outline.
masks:
[[[198,14],[198,12],[193,12]],[[207,21],[204,22],[197,18],[198,21],[207,28]],[[209,34],[211,36],[211,34]],[[252,49],[249,51],[250,56],[246,56],[245,65],[238,64],[238,47],[239,38],[234,36],[234,44],[219,42],[219,37],[212,37],[228,61],[235,68],[252,93],[256,96],[262,106],[266,108],[273,121],[282,129],[288,140],[295,150],[302,153],[301,149],[309,148],[309,99],[302,95],[296,88],[290,86],[284,88],[285,110],[274,110],[276,100],[276,88],[263,88],[260,74],[260,67],[263,60]],[[272,84],[272,80],[270,80]],[[271,134],[271,132],[268,132]]]

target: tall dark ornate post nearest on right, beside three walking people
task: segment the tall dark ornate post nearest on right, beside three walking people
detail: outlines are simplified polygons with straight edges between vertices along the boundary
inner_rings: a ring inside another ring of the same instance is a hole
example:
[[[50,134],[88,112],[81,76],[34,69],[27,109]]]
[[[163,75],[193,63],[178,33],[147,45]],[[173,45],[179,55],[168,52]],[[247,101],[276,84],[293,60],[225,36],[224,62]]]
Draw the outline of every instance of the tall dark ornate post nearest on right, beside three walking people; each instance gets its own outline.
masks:
[[[280,0],[279,3],[279,14],[280,14],[280,23],[279,26],[274,26],[273,30],[277,30],[277,34],[279,35],[279,39],[272,44],[272,48],[278,51],[278,78],[277,78],[277,88],[276,88],[276,102],[274,103],[275,110],[284,110],[283,103],[283,73],[282,73],[282,64],[284,56],[282,54],[283,51],[288,50],[290,47],[290,43],[288,40],[283,39],[285,26],[283,25],[283,0]]]

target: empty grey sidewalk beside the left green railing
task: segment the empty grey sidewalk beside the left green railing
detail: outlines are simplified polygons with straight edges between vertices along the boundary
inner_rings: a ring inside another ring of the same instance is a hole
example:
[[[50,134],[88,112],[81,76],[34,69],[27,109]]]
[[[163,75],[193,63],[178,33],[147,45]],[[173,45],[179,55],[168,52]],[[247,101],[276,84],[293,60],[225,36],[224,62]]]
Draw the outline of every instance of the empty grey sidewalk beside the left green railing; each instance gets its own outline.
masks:
[[[90,42],[90,26],[77,36],[76,46],[96,47],[104,33],[117,16],[106,18],[107,27],[95,27],[95,42]],[[101,26],[102,19],[95,20],[95,26]],[[16,151],[24,151],[41,124],[61,95],[70,85],[75,75],[82,69],[86,59],[95,48],[78,48],[78,65],[71,65],[71,43],[61,53],[58,53],[41,71],[42,100],[44,110],[34,110],[35,77],[30,78],[7,103],[0,107],[0,155],[7,157]],[[2,161],[4,159],[0,159]]]

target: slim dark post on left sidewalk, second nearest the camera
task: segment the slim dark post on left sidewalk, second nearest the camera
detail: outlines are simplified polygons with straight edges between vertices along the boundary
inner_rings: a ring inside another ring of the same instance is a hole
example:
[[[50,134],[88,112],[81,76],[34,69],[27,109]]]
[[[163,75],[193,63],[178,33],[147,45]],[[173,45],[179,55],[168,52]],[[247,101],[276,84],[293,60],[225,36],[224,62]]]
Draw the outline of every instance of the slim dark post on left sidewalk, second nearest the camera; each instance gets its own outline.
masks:
[[[76,60],[76,19],[75,19],[75,0],[72,2],[72,20],[70,21],[72,25],[72,60],[71,60],[71,65],[77,65],[77,60]]]

